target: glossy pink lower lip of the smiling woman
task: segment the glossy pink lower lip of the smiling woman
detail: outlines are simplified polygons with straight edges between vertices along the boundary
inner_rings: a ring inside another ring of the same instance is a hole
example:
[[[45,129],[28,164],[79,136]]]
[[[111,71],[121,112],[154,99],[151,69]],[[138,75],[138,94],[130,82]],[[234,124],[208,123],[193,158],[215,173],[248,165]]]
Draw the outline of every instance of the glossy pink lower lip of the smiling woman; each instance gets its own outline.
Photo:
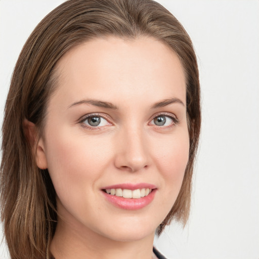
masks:
[[[138,199],[133,199],[133,198],[123,198],[123,197],[118,197],[116,195],[110,195],[104,191],[102,191],[105,198],[113,203],[115,206],[123,209],[129,209],[129,210],[137,210],[146,207],[148,204],[152,202],[154,199],[156,189],[153,189],[152,192],[145,197],[141,197]]]

